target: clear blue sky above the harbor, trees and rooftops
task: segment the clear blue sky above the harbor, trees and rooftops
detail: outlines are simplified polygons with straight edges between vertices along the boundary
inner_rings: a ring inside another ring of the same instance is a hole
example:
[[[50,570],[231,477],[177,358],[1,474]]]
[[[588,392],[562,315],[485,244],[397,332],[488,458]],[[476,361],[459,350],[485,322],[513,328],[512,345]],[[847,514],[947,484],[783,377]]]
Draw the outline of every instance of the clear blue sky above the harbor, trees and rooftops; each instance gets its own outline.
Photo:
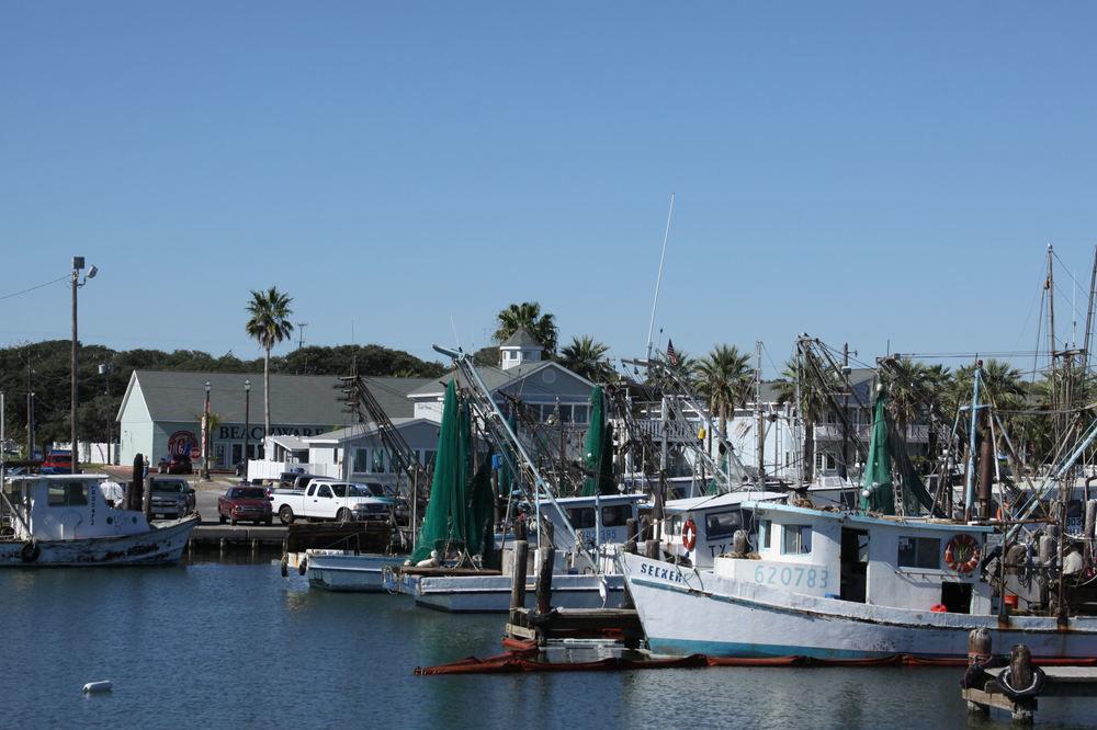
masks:
[[[305,344],[534,300],[633,357],[671,194],[660,347],[1024,357],[1049,244],[1082,339],[1097,5],[518,5],[0,1],[0,346],[83,255],[87,343],[257,357],[276,286]]]

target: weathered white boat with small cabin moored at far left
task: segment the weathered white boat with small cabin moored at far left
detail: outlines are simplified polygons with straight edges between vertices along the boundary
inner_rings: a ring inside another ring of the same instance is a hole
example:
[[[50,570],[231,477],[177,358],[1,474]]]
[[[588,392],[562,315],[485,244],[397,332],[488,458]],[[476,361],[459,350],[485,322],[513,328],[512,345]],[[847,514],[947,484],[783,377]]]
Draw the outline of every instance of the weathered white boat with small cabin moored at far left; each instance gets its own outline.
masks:
[[[176,562],[197,515],[149,525],[145,514],[111,506],[106,475],[19,477],[0,499],[0,567],[121,566]]]

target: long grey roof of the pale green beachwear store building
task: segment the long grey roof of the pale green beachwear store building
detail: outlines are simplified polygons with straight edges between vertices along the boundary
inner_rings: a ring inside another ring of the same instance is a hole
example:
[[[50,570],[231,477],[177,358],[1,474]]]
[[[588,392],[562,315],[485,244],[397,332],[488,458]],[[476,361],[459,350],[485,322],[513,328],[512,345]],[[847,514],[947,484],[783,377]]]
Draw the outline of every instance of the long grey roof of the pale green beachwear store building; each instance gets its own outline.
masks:
[[[251,380],[251,423],[263,422],[262,373],[196,373],[180,370],[134,370],[118,411],[121,418],[136,381],[154,421],[196,421],[210,383],[210,410],[222,423],[244,423],[244,381]],[[432,383],[432,378],[366,377],[370,392],[388,418],[410,418],[415,403],[408,395]],[[351,418],[340,401],[342,386],[331,375],[272,375],[271,423],[321,425],[347,423]]]

